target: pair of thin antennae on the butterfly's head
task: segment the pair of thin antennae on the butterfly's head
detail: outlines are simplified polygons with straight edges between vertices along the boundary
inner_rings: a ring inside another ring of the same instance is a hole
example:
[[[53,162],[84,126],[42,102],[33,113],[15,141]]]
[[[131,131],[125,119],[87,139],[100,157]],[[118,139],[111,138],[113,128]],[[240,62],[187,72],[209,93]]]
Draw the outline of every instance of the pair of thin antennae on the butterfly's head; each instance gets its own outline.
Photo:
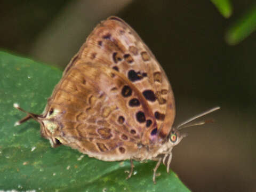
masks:
[[[186,120],[185,122],[180,123],[180,124],[177,126],[176,129],[177,129],[177,130],[181,130],[181,129],[185,128],[185,127],[190,127],[190,126],[195,126],[195,125],[203,125],[203,124],[205,124],[205,123],[213,122],[213,120],[210,119],[210,120],[204,120],[204,121],[199,121],[199,122],[196,122],[196,123],[188,124],[188,123],[190,123],[191,121],[194,121],[195,119],[197,119],[197,118],[199,118],[199,117],[202,117],[202,116],[204,116],[204,115],[210,114],[210,113],[212,113],[213,111],[218,110],[218,109],[220,109],[219,106],[218,106],[218,107],[214,107],[214,108],[212,108],[212,109],[209,109],[209,110],[207,110],[207,111],[204,111],[203,113],[198,114],[198,115],[196,115],[196,116],[194,116],[194,117],[191,117],[191,118],[189,118],[188,120]],[[185,125],[185,126],[183,126],[183,125]]]

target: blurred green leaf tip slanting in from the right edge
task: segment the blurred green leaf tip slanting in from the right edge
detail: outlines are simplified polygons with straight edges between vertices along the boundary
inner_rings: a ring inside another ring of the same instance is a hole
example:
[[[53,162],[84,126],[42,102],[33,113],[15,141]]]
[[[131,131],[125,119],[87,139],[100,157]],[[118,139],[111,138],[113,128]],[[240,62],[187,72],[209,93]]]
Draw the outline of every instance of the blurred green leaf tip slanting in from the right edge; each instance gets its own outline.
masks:
[[[226,41],[236,45],[243,41],[256,29],[256,5],[254,5],[241,19],[231,26],[226,33]]]

